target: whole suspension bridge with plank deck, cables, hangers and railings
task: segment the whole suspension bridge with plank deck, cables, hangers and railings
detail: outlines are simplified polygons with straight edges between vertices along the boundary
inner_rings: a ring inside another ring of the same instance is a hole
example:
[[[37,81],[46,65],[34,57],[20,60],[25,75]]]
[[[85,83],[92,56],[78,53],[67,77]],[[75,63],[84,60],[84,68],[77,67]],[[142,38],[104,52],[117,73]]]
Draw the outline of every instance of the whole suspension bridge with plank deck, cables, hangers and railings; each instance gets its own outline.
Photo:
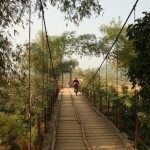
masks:
[[[128,118],[129,114],[123,106],[119,105],[118,100],[118,62],[116,72],[116,94],[117,104],[111,104],[110,97],[108,95],[108,83],[107,83],[107,60],[110,52],[116,44],[122,30],[124,29],[128,19],[133,11],[135,11],[135,5],[129,13],[125,23],[116,36],[116,39],[112,43],[110,49],[105,55],[100,67],[95,71],[92,78],[88,81],[87,85],[79,87],[79,93],[76,95],[71,87],[63,87],[63,75],[62,85],[58,84],[55,74],[55,68],[53,65],[53,56],[51,54],[50,42],[48,39],[46,22],[44,16],[44,10],[41,3],[42,11],[42,38],[44,38],[43,29],[45,29],[46,43],[49,55],[49,64],[51,73],[48,72],[47,81],[49,86],[55,84],[55,88],[47,90],[49,96],[46,103],[46,107],[43,105],[42,96],[42,114],[41,118],[37,117],[37,143],[36,149],[38,150],[136,150],[138,149],[138,115],[135,111]],[[31,11],[31,6],[30,6]],[[32,147],[32,102],[31,102],[31,12],[29,12],[29,101],[28,101],[28,114],[29,114],[29,143],[23,143],[22,149],[35,149]],[[43,43],[42,43],[43,44]],[[43,48],[43,45],[42,45]],[[105,94],[101,91],[101,67],[105,63],[106,65],[106,83]],[[70,70],[70,82],[72,81],[72,74]],[[50,74],[50,75],[49,75]],[[49,78],[49,79],[48,79]],[[43,91],[44,84],[43,80]],[[97,86],[97,84],[99,84]],[[98,87],[98,89],[96,88]],[[44,91],[45,92],[45,91]],[[46,93],[45,92],[45,93]],[[123,114],[126,117],[122,117]],[[40,116],[40,115],[39,115]],[[123,122],[124,120],[124,122]],[[132,124],[131,139],[124,131],[129,130],[129,124]],[[142,143],[142,142],[141,142]],[[144,143],[145,148],[149,149]]]

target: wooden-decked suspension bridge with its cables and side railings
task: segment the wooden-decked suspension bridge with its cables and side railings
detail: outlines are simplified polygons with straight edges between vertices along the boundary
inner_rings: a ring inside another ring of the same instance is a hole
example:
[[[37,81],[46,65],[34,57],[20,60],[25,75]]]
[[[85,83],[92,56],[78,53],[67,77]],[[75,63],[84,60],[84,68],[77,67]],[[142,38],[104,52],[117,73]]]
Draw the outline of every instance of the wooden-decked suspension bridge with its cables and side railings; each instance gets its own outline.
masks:
[[[122,30],[124,29],[132,12],[135,10],[136,4],[133,6],[129,16],[123,24],[112,46],[108,50],[103,62],[97,69],[93,77],[89,80],[86,87],[80,87],[80,93],[76,96],[72,88],[56,89],[51,95],[51,100],[47,108],[44,108],[44,134],[41,133],[41,122],[38,119],[38,144],[37,149],[41,150],[134,150],[138,147],[138,118],[134,116],[134,133],[133,138],[129,140],[127,135],[120,131],[121,110],[119,105],[115,108],[111,107],[110,98],[107,95],[101,95],[101,92],[94,91],[95,80],[98,73],[100,74],[101,67],[106,62],[108,56],[116,44]],[[44,10],[42,8],[42,19],[46,33],[47,47],[53,79],[57,83],[55,70],[53,67],[51,49],[49,45],[46,23],[44,18]],[[30,29],[30,27],[29,27]],[[30,40],[29,40],[30,41]],[[29,42],[30,45],[30,42]],[[30,51],[30,47],[29,47]],[[30,59],[30,58],[29,58]],[[29,64],[30,66],[30,64]],[[106,69],[107,71],[107,69]],[[107,73],[106,73],[107,74]],[[30,76],[30,73],[29,73]],[[118,78],[118,70],[117,70]],[[99,78],[100,80],[100,78]],[[107,80],[107,76],[106,76]],[[71,81],[71,79],[70,79]],[[106,82],[107,84],[107,82]],[[63,85],[63,83],[62,83]],[[88,88],[92,85],[92,90]],[[118,83],[117,83],[118,90]],[[30,93],[29,93],[30,95]],[[105,97],[105,100],[104,100]],[[115,112],[113,112],[115,111]],[[113,113],[113,114],[112,114]],[[112,118],[116,117],[117,122],[112,123]],[[126,118],[128,119],[128,118]],[[127,120],[128,121],[128,120]],[[115,126],[115,125],[116,126]],[[31,132],[30,132],[31,134]],[[30,135],[31,137],[31,135]],[[31,143],[30,138],[30,143]],[[26,150],[26,148],[24,148]],[[30,149],[31,144],[30,144]]]

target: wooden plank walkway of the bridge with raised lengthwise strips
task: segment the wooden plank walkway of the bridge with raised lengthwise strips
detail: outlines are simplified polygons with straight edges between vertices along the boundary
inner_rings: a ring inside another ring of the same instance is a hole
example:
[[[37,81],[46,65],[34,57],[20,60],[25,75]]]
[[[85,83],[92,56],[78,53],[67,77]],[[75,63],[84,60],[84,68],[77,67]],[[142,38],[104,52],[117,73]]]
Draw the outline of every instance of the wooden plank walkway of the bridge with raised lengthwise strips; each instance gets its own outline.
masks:
[[[63,89],[56,129],[56,150],[134,149],[117,130],[98,115],[79,93]]]

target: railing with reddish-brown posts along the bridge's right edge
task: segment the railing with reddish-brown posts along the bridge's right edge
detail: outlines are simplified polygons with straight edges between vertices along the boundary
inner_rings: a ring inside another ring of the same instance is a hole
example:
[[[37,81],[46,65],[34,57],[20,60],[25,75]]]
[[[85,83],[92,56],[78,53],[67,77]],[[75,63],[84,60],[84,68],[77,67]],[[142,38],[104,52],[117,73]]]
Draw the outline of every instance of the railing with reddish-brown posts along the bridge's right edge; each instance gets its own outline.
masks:
[[[101,92],[100,88],[95,89],[94,85],[91,84],[90,87],[79,87],[79,91],[87,98],[92,105],[100,111],[104,116],[106,116],[121,132],[127,134],[128,139],[134,141],[133,146],[139,150],[149,150],[148,137],[150,137],[150,128],[148,128],[145,134],[142,134],[142,127],[140,127],[140,120],[138,118],[137,109],[130,109],[121,103],[121,99],[126,98],[127,95],[119,97],[114,90],[114,95],[116,96],[112,99],[108,93]],[[106,95],[107,94],[107,95]],[[145,126],[148,123],[145,122]],[[142,135],[141,135],[142,134]],[[143,135],[145,137],[143,137]],[[147,138],[147,142],[144,143],[143,140]]]

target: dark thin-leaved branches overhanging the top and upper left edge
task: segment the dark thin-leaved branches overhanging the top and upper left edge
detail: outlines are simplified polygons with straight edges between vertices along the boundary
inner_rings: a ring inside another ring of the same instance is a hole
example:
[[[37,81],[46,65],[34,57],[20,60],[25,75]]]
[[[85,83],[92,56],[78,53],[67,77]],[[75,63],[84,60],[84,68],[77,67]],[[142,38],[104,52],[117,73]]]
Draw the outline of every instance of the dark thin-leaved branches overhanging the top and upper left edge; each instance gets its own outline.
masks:
[[[5,77],[8,71],[12,70],[12,60],[16,57],[12,50],[12,43],[10,42],[12,34],[10,34],[9,29],[11,28],[15,35],[17,34],[17,30],[14,28],[15,25],[20,25],[21,23],[22,27],[24,27],[25,21],[28,23],[30,2],[32,2],[32,11],[34,10],[39,16],[41,9],[47,7],[47,0],[0,1],[0,80],[2,82],[6,82]],[[43,7],[41,7],[41,2]],[[78,25],[83,18],[90,18],[93,13],[99,15],[102,11],[99,1],[95,0],[51,0],[50,4],[64,13],[66,20],[74,22],[76,25]]]

